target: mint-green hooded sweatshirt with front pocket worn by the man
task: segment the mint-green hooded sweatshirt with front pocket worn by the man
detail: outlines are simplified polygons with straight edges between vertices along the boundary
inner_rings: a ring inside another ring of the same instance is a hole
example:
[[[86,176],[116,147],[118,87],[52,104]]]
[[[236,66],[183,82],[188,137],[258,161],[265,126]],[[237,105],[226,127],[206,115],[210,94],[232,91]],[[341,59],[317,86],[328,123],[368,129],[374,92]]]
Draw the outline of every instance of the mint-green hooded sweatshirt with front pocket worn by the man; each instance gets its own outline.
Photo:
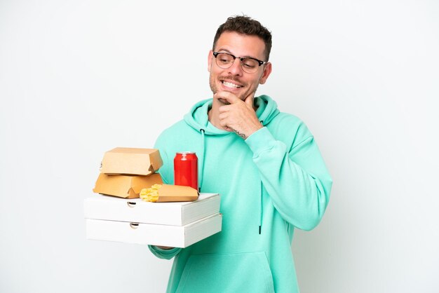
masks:
[[[177,151],[195,151],[201,192],[221,196],[222,231],[175,257],[167,292],[299,292],[291,242],[294,229],[311,230],[330,198],[332,179],[313,135],[270,97],[255,98],[263,128],[247,139],[208,121],[212,99],[195,104],[184,120],[156,141],[163,181],[173,184]]]

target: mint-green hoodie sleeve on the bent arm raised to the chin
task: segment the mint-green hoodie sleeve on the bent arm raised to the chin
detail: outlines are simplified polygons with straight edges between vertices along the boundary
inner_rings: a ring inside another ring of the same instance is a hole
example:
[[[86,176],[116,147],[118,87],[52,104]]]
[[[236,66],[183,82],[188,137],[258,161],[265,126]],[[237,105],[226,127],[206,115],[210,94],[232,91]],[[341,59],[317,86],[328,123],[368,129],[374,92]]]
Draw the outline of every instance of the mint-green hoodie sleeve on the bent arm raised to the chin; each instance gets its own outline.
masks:
[[[245,139],[262,184],[285,221],[309,231],[323,217],[332,187],[313,136],[302,123],[291,139],[277,140],[264,127]]]

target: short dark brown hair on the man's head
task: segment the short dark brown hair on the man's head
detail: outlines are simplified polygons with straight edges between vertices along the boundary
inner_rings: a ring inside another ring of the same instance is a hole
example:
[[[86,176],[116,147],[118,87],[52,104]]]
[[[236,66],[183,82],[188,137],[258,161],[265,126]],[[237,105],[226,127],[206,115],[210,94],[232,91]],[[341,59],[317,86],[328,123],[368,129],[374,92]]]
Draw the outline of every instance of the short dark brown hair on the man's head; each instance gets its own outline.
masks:
[[[253,20],[246,15],[236,15],[227,18],[227,21],[220,25],[213,39],[212,50],[215,50],[215,45],[219,36],[223,32],[237,32],[238,34],[248,34],[250,36],[259,36],[265,43],[265,61],[269,60],[271,51],[271,32],[262,26],[257,20]]]

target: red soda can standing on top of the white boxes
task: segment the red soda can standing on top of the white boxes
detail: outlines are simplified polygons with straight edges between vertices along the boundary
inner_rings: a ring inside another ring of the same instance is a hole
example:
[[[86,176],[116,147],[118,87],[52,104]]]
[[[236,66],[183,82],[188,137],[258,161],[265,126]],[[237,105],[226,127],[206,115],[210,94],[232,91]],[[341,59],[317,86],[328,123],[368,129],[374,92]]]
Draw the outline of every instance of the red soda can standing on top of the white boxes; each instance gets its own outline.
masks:
[[[198,191],[198,158],[194,151],[182,151],[174,158],[174,184]]]

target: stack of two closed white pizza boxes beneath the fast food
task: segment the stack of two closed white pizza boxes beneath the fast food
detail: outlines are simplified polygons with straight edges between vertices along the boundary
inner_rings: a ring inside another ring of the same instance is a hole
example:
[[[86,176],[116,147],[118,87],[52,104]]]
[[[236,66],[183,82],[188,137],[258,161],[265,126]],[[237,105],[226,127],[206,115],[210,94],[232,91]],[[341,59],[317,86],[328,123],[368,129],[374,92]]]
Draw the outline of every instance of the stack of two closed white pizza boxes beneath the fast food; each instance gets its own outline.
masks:
[[[219,200],[217,193],[168,203],[92,196],[84,201],[86,238],[187,247],[222,230]]]

